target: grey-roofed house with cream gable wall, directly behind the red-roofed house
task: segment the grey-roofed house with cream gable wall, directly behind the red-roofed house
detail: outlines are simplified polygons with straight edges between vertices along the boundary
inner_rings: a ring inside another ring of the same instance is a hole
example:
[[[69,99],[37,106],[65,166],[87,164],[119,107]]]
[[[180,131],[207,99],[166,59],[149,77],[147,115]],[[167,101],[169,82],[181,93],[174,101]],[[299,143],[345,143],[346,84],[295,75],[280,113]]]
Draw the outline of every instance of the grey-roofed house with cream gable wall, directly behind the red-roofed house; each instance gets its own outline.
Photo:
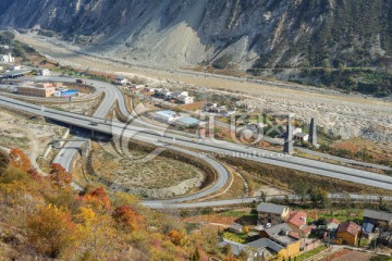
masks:
[[[285,206],[261,202],[257,207],[257,223],[260,225],[275,225],[289,217],[289,208]]]

